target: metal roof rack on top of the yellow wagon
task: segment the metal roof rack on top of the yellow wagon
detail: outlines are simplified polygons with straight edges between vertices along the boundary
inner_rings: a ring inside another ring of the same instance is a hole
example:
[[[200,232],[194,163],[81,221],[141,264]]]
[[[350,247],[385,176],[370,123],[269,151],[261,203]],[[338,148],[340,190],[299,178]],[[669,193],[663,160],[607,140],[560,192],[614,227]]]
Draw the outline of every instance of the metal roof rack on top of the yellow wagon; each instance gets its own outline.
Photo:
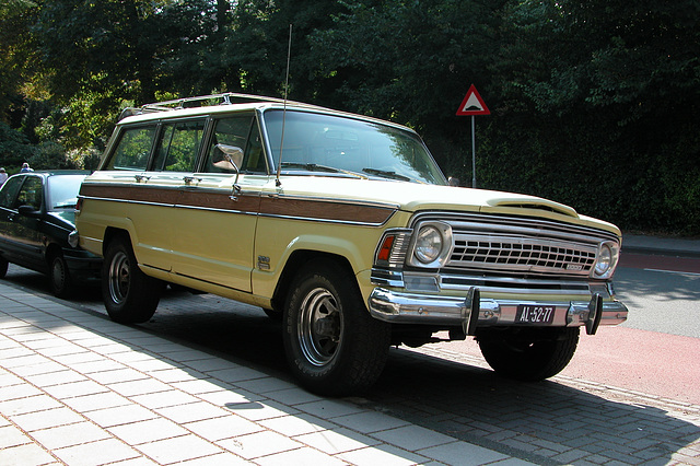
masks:
[[[248,104],[248,103],[276,103],[283,104],[285,101],[279,97],[268,97],[262,95],[253,94],[238,94],[235,92],[226,92],[223,94],[200,95],[196,97],[175,98],[172,101],[154,102],[152,104],[144,104],[140,107],[125,108],[119,115],[119,119],[124,119],[132,115],[142,115],[152,112],[168,112],[178,110],[182,108],[191,107],[205,107],[211,105],[232,105],[232,104]],[[316,105],[304,104],[301,102],[287,101],[287,104],[302,105],[308,107],[316,107]]]

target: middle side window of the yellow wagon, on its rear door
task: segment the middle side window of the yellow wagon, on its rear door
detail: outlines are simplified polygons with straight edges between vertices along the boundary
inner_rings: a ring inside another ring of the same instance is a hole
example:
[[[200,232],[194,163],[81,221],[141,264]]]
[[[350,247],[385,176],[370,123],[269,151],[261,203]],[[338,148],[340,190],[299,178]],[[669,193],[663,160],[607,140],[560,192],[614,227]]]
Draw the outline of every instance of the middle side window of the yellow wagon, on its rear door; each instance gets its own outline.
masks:
[[[203,119],[163,124],[153,170],[194,172],[203,132]]]

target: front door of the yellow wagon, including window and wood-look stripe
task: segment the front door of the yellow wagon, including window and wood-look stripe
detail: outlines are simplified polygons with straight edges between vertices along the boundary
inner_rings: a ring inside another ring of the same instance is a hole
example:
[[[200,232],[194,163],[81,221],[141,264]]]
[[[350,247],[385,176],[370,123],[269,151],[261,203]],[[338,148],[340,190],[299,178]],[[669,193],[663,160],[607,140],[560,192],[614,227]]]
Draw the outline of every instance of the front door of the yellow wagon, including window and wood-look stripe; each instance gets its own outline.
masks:
[[[183,174],[173,272],[250,292],[260,186],[267,183],[253,114],[211,120],[199,170]]]

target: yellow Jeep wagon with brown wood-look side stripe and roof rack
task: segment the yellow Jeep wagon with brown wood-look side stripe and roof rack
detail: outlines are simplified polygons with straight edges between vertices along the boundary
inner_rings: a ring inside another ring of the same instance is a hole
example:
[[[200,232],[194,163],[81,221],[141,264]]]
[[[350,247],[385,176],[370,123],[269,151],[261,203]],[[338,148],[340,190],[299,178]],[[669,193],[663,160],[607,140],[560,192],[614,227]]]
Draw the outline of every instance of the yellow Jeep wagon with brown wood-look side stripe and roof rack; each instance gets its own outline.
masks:
[[[85,179],[72,240],[104,256],[109,316],[142,323],[164,283],[283,321],[292,373],[370,387],[392,345],[474,336],[499,373],[557,374],[581,327],[627,318],[620,231],[550,200],[448,186],[387,121],[221,94],[130,109]]]

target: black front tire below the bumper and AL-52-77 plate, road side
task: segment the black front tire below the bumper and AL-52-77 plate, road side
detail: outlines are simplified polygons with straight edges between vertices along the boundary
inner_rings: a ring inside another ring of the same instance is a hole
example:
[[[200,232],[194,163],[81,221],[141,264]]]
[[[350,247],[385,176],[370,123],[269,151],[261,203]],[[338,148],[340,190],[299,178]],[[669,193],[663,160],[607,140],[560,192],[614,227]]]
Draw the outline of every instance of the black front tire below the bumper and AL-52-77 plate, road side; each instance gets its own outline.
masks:
[[[498,374],[536,382],[569,364],[579,343],[579,327],[491,331],[477,339],[481,354]]]

